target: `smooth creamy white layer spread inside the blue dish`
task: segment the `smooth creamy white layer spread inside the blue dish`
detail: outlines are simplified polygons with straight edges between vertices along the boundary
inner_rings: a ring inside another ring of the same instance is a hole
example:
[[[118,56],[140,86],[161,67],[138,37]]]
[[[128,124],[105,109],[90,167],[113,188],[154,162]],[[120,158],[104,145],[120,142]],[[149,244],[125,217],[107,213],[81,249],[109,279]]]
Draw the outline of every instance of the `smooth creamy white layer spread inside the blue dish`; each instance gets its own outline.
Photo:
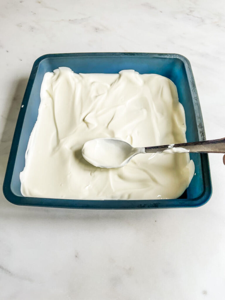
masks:
[[[125,167],[102,169],[81,153],[88,140],[116,137],[133,147],[185,143],[186,125],[174,83],[156,74],[44,75],[38,119],[24,170],[24,196],[67,199],[170,199],[188,187],[189,153],[136,155]]]

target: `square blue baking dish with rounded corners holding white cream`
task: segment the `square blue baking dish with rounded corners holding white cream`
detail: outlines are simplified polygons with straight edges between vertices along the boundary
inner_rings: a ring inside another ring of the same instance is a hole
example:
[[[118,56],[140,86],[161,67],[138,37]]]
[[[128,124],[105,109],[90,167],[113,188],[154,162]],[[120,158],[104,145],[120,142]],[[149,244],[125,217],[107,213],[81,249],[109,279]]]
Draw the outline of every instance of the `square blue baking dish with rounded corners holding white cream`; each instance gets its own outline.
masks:
[[[70,67],[76,73],[118,73],[134,69],[170,78],[177,86],[179,101],[186,116],[187,142],[205,140],[199,98],[190,62],[182,55],[167,53],[65,53],[39,57],[32,68],[15,128],[3,192],[8,201],[18,205],[61,208],[140,209],[197,207],[205,204],[212,192],[207,154],[190,154],[195,176],[179,199],[156,200],[71,200],[24,197],[20,192],[19,173],[25,165],[25,152],[38,116],[41,82],[46,72]]]

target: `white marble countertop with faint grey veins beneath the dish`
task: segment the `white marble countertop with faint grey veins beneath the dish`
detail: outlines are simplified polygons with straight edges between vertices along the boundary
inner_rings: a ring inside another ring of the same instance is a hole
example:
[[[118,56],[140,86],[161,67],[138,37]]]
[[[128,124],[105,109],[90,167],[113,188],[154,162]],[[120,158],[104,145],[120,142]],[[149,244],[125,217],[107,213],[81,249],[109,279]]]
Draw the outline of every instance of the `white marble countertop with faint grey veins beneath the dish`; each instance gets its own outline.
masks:
[[[0,298],[224,299],[225,166],[195,209],[19,207],[2,194],[13,131],[36,58],[60,52],[175,52],[191,62],[208,139],[225,129],[225,2],[1,0]]]

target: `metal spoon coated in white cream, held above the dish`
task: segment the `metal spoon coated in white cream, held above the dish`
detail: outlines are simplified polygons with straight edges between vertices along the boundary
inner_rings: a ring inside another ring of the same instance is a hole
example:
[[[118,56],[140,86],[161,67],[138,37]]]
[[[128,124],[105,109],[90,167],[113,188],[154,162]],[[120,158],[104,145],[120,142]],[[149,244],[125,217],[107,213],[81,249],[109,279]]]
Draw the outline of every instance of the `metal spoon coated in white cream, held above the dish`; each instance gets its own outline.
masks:
[[[87,141],[82,147],[86,161],[100,168],[124,167],[140,153],[225,153],[225,138],[201,142],[171,144],[152,147],[132,147],[116,138],[98,138]]]

